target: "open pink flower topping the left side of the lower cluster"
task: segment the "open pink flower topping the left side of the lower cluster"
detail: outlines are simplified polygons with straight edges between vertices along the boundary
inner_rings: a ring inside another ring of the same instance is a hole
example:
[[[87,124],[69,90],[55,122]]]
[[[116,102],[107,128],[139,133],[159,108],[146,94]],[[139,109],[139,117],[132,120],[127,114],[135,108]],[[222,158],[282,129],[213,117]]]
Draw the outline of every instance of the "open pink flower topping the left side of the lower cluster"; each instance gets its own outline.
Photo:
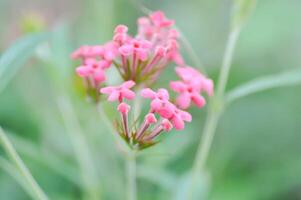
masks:
[[[122,102],[123,99],[131,100],[135,98],[135,93],[130,90],[135,85],[134,81],[126,81],[122,83],[120,86],[109,86],[100,89],[100,92],[103,94],[108,94],[108,101],[116,101]]]

